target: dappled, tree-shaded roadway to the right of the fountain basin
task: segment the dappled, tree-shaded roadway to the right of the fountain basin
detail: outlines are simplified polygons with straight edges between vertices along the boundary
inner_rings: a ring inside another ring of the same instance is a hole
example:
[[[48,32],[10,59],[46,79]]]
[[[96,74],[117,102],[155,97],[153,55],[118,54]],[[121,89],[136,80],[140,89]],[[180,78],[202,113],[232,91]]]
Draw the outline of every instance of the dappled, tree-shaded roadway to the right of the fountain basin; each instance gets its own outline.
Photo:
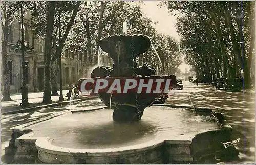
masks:
[[[235,147],[240,160],[233,163],[255,162],[255,96],[252,93],[227,92],[210,85],[184,85],[184,91],[169,95],[166,104],[194,105],[212,108],[222,113],[232,126],[233,140],[240,138]]]

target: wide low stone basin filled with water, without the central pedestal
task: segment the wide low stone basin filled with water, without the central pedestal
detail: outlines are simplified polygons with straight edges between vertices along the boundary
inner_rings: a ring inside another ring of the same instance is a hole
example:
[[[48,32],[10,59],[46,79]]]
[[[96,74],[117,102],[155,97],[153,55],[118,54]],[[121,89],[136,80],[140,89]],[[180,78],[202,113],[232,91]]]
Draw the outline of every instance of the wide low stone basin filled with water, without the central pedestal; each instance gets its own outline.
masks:
[[[98,109],[23,126],[33,132],[15,140],[15,158],[33,161],[38,153],[41,163],[185,163],[223,149],[230,138],[230,125],[209,109],[151,106],[133,123],[116,123],[113,110]]]

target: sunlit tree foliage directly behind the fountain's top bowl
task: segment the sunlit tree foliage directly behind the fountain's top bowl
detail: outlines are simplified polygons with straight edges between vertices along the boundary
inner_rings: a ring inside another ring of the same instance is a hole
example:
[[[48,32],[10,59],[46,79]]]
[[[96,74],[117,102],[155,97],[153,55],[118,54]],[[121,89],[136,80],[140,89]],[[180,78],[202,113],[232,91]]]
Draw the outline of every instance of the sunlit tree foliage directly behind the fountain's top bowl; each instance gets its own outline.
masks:
[[[82,2],[78,16],[67,40],[66,46],[74,52],[87,50],[89,61],[95,64],[99,36],[99,21],[102,9],[101,2]],[[143,34],[150,37],[156,47],[163,70],[160,71],[159,60],[155,52],[150,49],[142,55],[138,62],[151,64],[159,68],[159,74],[174,74],[175,68],[181,63],[178,43],[169,36],[159,34],[153,27],[154,23],[146,17],[139,4],[127,1],[108,2],[102,18],[102,35],[100,38],[114,34],[123,34],[123,22],[127,23],[127,34]],[[76,40],[77,42],[73,42]],[[158,61],[158,62],[156,62]],[[111,60],[109,58],[110,65]]]

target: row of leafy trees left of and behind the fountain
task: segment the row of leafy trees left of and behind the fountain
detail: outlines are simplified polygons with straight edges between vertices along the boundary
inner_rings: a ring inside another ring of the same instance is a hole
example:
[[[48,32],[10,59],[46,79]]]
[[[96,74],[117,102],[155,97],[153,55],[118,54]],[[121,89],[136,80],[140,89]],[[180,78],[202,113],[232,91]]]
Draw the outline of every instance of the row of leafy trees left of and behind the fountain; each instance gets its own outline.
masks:
[[[181,64],[177,41],[157,32],[154,28],[155,22],[142,13],[140,3],[127,1],[35,1],[32,4],[30,2],[10,3],[4,1],[2,12],[6,12],[3,10],[6,7],[9,10],[9,15],[18,13],[20,3],[24,3],[26,9],[33,9],[36,6],[39,13],[39,16],[32,18],[31,26],[37,37],[45,40],[44,103],[51,103],[51,91],[53,95],[57,93],[58,58],[62,50],[68,49],[74,54],[87,50],[88,62],[92,66],[96,65],[100,39],[114,34],[123,34],[123,22],[127,22],[127,34],[144,34],[150,37],[159,54],[160,61],[154,50],[150,49],[137,59],[139,65],[148,63],[153,65],[159,74],[174,74],[175,69]],[[10,8],[10,5],[13,7]],[[8,28],[14,18],[5,18],[5,20],[8,22],[6,26],[3,26],[2,23],[2,29],[6,28],[7,33],[2,45],[8,41]],[[5,48],[2,47],[2,54],[3,49],[6,50],[7,45]],[[4,54],[7,57],[7,51]],[[109,58],[108,61],[108,65],[111,66],[112,60]],[[4,62],[6,63],[4,70],[7,75],[4,77],[6,84],[4,85],[6,86],[4,97],[10,99],[7,58],[3,60]]]

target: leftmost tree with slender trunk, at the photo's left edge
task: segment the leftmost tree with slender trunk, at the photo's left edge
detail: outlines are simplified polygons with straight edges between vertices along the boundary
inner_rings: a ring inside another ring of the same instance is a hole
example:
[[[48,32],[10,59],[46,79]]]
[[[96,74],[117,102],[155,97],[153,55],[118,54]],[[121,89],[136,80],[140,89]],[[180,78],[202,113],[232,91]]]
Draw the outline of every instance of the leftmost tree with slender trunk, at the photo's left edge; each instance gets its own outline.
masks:
[[[2,65],[3,65],[3,98],[2,101],[12,100],[10,95],[10,70],[8,67],[8,55],[7,55],[7,46],[9,41],[9,31],[14,18],[17,17],[17,12],[20,9],[20,2],[10,2],[2,1],[1,2],[1,25],[3,31],[3,40],[2,40]]]

